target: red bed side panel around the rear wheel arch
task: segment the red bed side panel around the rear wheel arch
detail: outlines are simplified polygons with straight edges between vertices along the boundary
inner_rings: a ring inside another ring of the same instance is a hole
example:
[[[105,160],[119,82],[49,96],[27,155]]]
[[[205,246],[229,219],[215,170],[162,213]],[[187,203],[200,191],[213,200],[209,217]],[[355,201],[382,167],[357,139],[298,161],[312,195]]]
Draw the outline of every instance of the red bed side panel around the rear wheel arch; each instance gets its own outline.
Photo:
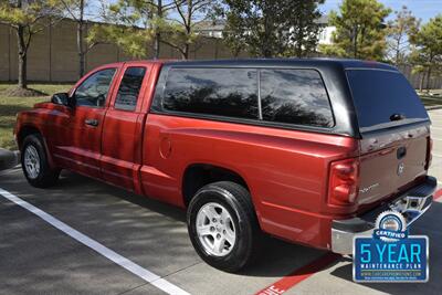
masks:
[[[329,241],[330,210],[340,210],[326,201],[329,162],[358,152],[345,136],[160,114],[148,115],[144,143],[146,194],[183,207],[186,168],[223,167],[245,180],[264,231],[319,247]]]

